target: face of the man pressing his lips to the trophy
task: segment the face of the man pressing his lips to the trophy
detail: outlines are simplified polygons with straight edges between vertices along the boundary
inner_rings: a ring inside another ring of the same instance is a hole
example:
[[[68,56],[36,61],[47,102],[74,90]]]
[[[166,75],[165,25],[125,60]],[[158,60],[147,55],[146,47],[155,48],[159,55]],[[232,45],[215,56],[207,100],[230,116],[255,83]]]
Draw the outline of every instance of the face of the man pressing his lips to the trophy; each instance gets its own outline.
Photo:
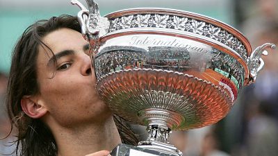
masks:
[[[111,116],[95,90],[95,72],[90,70],[88,42],[81,33],[68,28],[51,32],[42,41],[37,60],[38,104],[47,108],[49,122],[73,126],[104,120]],[[93,69],[92,69],[93,70]]]

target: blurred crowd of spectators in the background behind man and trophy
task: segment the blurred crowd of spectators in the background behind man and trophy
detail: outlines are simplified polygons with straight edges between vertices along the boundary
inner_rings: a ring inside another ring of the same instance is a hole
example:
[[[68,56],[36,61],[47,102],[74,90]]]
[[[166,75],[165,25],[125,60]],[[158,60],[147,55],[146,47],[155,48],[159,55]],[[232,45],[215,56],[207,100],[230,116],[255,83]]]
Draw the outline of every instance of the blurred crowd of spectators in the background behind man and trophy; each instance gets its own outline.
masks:
[[[277,0],[238,0],[235,8],[237,28],[253,49],[266,42],[278,44]],[[278,53],[268,52],[256,83],[243,89],[231,114],[206,128],[172,132],[170,142],[184,156],[278,155]],[[0,73],[0,138],[10,132],[4,104],[7,83],[6,74]],[[11,141],[0,140],[0,156],[13,151]]]

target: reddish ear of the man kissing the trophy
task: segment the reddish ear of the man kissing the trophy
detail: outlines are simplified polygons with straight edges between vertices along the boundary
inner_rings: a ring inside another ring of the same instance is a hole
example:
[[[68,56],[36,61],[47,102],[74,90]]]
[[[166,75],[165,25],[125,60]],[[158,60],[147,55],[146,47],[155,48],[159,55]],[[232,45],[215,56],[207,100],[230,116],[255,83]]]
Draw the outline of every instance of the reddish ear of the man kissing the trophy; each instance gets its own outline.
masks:
[[[40,105],[34,96],[24,96],[21,100],[22,110],[33,119],[38,119],[47,113],[47,108]]]

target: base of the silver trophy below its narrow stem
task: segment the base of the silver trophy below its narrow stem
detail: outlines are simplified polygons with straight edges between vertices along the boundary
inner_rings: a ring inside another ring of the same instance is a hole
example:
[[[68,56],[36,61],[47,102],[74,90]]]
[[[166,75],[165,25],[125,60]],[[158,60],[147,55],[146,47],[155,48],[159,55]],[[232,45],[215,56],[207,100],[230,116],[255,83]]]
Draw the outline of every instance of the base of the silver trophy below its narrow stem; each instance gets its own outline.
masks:
[[[145,145],[143,146],[131,146],[126,144],[119,144],[111,151],[112,156],[181,156],[182,153],[179,151],[167,150],[167,149],[149,149],[150,146],[154,145]]]

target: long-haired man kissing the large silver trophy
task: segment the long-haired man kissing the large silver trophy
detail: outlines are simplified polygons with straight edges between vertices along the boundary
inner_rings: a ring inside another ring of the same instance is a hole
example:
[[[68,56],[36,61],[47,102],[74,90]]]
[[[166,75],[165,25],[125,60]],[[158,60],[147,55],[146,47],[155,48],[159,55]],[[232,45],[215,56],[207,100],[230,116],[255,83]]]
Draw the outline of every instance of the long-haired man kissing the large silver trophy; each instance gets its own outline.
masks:
[[[97,95],[80,32],[76,17],[52,17],[28,27],[16,44],[7,106],[18,128],[17,155],[108,155],[121,137],[136,144]]]

